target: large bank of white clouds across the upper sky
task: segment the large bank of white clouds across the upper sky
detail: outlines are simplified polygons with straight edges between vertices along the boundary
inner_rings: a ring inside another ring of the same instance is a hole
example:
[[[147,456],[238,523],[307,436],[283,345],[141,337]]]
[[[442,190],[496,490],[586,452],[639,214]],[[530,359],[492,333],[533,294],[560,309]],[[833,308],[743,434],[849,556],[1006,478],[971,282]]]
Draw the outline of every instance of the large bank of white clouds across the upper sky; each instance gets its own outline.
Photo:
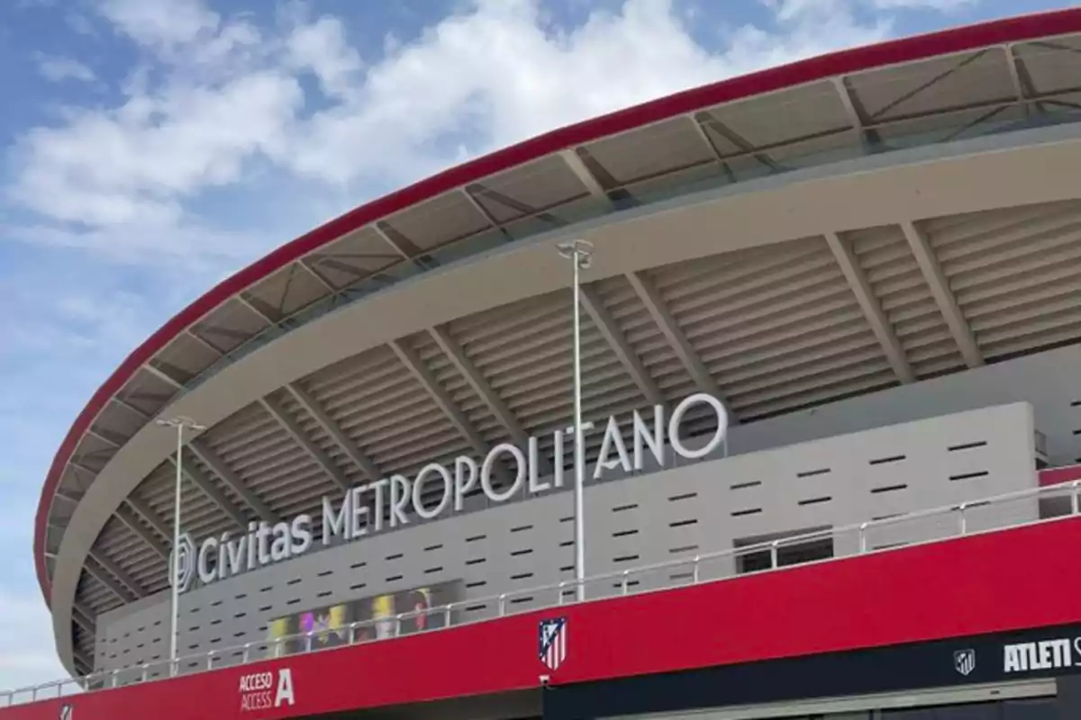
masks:
[[[341,19],[303,6],[258,24],[200,0],[106,0],[102,16],[145,59],[122,103],[19,138],[8,194],[48,227],[17,234],[55,243],[75,228],[70,244],[136,249],[193,227],[204,193],[255,168],[385,191],[561,124],[891,32],[859,6],[963,0],[763,1],[776,28],[718,22],[707,49],[671,0],[626,0],[578,27],[553,26],[535,0],[475,0],[410,42],[388,35],[365,65]]]

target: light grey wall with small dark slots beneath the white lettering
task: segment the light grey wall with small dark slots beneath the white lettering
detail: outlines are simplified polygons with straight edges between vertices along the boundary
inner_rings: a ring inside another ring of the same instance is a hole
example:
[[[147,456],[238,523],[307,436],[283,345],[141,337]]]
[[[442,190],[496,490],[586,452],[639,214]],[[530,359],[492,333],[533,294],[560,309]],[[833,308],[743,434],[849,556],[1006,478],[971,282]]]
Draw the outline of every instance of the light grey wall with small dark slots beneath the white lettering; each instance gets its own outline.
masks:
[[[859,413],[863,399],[850,402]],[[733,445],[750,445],[748,431],[756,427],[733,430]],[[777,438],[790,436],[778,432]],[[588,574],[1031,488],[1032,437],[1032,407],[1018,403],[592,485],[586,491]],[[1036,502],[1010,512],[1012,519],[1035,519]],[[985,515],[973,527],[995,521],[1001,518]],[[942,533],[955,527],[944,526]],[[871,545],[926,539],[929,531],[935,528],[900,526]],[[178,652],[261,642],[273,617],[444,581],[462,580],[469,599],[510,593],[510,610],[553,604],[556,590],[523,590],[573,578],[572,541],[573,497],[558,492],[310,552],[184,594]],[[854,536],[838,539],[838,554],[854,549]],[[731,558],[713,562],[707,576],[731,574],[733,567]],[[636,589],[670,585],[683,573],[668,569],[637,578]],[[589,594],[613,594],[616,586],[605,581]],[[97,668],[166,657],[168,608],[163,594],[101,616]],[[464,612],[480,619],[496,611],[495,602],[473,602]],[[230,651],[221,664],[238,660]]]

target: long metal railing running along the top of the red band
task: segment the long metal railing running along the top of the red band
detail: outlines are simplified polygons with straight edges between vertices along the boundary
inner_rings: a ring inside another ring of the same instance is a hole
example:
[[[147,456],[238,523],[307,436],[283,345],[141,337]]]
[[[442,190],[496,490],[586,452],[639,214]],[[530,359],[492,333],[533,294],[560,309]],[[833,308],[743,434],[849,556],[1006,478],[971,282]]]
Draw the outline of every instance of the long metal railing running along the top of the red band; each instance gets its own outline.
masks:
[[[1041,503],[1040,501],[1046,501]],[[1054,502],[1057,500],[1058,502]],[[811,562],[828,562],[900,546],[942,542],[980,532],[1049,522],[1079,515],[1081,480],[1069,485],[1033,488],[996,495],[984,500],[961,502],[884,517],[858,525],[827,528],[789,536],[777,536],[751,545],[695,555],[665,562],[637,566],[584,579],[586,600],[592,602],[633,595],[738,578],[749,572],[783,571],[786,567],[804,566],[808,557],[788,557],[790,549],[808,552],[825,547],[828,553],[812,557]],[[760,566],[763,566],[761,569]],[[208,671],[253,662],[330,651],[358,643],[378,642],[414,631],[439,631],[476,622],[505,617],[523,612],[556,608],[576,602],[576,581],[563,581],[528,589],[453,602],[450,604],[399,613],[385,619],[351,623],[342,628],[320,629],[242,646],[212,650],[177,657],[175,661],[144,663],[131,667],[95,673],[78,679],[56,680],[30,688],[0,693],[0,708],[48,698],[64,697],[142,682]],[[439,627],[408,630],[405,622],[424,617],[426,624]],[[371,637],[374,636],[374,637]],[[236,662],[226,662],[227,660]]]

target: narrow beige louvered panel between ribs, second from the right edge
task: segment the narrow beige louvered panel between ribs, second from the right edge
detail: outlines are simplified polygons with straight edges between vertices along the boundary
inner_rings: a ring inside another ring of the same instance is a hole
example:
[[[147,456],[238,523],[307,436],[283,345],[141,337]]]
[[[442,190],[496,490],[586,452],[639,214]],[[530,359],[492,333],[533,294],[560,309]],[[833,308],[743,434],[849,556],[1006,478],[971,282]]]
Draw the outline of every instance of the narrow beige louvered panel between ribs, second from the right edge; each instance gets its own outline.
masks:
[[[942,311],[896,226],[845,234],[918,378],[964,367]]]

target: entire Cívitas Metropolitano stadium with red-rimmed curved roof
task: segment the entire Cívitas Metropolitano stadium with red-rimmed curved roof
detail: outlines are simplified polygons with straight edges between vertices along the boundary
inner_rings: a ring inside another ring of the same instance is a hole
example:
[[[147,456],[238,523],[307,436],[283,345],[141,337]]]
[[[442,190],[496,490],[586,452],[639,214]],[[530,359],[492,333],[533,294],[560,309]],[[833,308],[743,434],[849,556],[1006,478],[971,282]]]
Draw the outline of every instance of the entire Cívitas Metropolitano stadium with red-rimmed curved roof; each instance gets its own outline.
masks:
[[[1078,9],[815,57],[244,268],[57,450],[0,720],[1078,717],[1079,78]]]

